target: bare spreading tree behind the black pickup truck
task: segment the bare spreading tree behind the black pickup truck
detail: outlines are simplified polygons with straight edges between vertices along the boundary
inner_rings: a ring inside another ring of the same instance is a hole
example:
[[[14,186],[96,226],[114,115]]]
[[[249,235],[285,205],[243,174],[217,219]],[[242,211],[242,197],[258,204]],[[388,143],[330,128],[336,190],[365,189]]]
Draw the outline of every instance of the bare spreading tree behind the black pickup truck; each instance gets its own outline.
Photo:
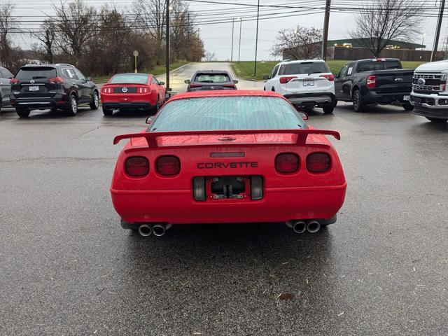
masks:
[[[377,0],[363,5],[356,17],[351,38],[370,50],[374,57],[391,41],[409,41],[419,34],[424,1]]]

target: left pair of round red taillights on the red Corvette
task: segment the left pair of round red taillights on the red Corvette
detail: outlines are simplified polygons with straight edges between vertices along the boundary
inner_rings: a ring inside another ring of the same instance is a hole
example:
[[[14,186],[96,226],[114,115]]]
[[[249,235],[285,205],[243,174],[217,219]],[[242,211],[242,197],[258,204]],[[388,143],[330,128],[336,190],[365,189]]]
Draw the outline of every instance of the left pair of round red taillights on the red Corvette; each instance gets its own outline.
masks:
[[[181,172],[181,161],[173,155],[160,156],[155,169],[162,176],[174,176]],[[144,177],[149,174],[149,161],[144,156],[131,156],[126,159],[125,171],[132,177]]]

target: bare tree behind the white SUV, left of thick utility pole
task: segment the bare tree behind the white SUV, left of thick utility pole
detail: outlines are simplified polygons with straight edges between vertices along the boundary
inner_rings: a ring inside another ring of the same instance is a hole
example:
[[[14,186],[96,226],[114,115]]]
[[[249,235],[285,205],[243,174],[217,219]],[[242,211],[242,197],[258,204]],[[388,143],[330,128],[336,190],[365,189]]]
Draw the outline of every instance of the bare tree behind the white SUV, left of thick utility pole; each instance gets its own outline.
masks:
[[[318,57],[321,50],[322,30],[297,25],[295,29],[280,30],[276,37],[272,55],[293,59]]]

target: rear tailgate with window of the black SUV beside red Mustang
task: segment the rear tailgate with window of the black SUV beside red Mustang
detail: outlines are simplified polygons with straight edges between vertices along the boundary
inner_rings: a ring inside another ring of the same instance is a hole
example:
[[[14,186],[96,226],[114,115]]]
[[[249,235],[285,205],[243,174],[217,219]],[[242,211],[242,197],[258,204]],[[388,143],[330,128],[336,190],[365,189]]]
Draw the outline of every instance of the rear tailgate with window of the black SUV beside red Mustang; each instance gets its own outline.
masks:
[[[57,77],[55,68],[50,66],[27,66],[19,70],[15,78],[20,80],[18,84],[12,86],[12,90],[19,91],[20,97],[34,97],[39,94],[57,90],[57,84],[50,83],[48,79]]]

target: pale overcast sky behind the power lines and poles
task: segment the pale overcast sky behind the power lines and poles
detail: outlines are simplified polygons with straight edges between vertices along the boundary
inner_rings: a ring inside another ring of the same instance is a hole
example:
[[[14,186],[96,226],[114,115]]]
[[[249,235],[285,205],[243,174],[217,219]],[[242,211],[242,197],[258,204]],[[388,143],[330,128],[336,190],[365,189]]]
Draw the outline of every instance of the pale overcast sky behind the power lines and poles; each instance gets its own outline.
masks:
[[[6,3],[8,0],[0,0],[0,3]],[[106,0],[85,0],[92,6],[100,8],[101,6],[113,6],[123,10],[130,10],[134,0],[120,0],[120,1],[106,1]],[[232,22],[213,24],[220,20],[232,20],[232,17],[239,18],[245,17],[246,20],[253,20],[256,15],[256,6],[238,6],[237,3],[256,4],[257,0],[210,0],[225,3],[232,3],[231,5],[213,4],[213,3],[197,3],[189,2],[190,9],[196,13],[197,21],[201,22],[200,35],[205,43],[205,49],[216,54],[217,59],[226,60],[231,56],[232,45]],[[358,3],[367,0],[359,0]],[[51,0],[14,0],[15,3],[15,15],[25,15],[22,20],[41,20],[40,18],[26,18],[26,15],[51,15],[52,1]],[[59,2],[57,0],[56,2]],[[325,0],[311,1],[311,0],[260,0],[262,5],[289,5],[289,6],[315,6],[316,3],[325,3]],[[335,1],[333,1],[334,3]],[[338,1],[339,3],[341,1]],[[430,6],[436,7],[437,0],[428,0]],[[322,5],[321,5],[322,6]],[[437,3],[438,6],[438,3]],[[448,3],[447,3],[448,8]],[[307,10],[306,15],[300,15],[302,13],[294,13],[294,10],[284,10],[278,8],[262,8],[260,15],[267,15],[272,13],[279,13],[281,15],[293,15],[286,18],[272,18],[269,20],[260,20],[259,34],[258,34],[258,59],[274,59],[271,54],[272,45],[276,41],[276,34],[279,29],[293,28],[297,24],[304,27],[316,27],[321,29],[323,27],[323,13],[309,13]],[[329,38],[349,38],[349,31],[354,29],[354,15],[351,13],[332,12],[330,15],[330,30]],[[437,18],[422,18],[424,20],[422,27],[423,32],[426,33],[424,37],[424,43],[427,48],[431,48],[433,45],[433,39],[435,35],[435,26]],[[27,23],[29,25],[38,25],[36,23]],[[239,49],[239,21],[235,20],[234,31],[234,57],[238,58]],[[32,26],[31,26],[32,27]],[[255,54],[255,21],[243,21],[241,29],[241,60],[252,60]],[[445,11],[444,20],[442,22],[442,36],[440,38],[440,44],[443,41],[444,36],[448,34],[448,10]],[[416,38],[415,43],[421,43],[420,38]],[[16,38],[16,42],[22,47],[31,48],[32,41],[29,37],[22,35]]]

